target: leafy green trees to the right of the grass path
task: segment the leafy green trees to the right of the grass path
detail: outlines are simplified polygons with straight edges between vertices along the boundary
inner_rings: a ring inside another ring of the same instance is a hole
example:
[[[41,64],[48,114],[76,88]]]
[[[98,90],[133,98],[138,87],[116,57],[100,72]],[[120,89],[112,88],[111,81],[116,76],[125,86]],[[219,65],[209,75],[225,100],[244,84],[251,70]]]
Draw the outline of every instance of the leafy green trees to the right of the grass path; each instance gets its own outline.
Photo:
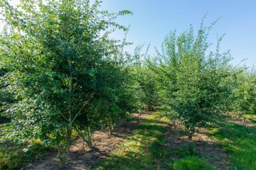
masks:
[[[137,68],[144,77],[138,81],[143,79],[142,88],[149,94],[146,101],[161,105],[162,116],[180,120],[190,138],[200,128],[219,122],[225,112],[244,119],[245,114],[256,113],[255,68],[229,64],[229,51],[219,50],[225,34],[211,50],[208,36],[218,20],[205,27],[204,19],[197,32],[192,26],[179,36],[170,32],[155,56],[140,55],[146,59]]]

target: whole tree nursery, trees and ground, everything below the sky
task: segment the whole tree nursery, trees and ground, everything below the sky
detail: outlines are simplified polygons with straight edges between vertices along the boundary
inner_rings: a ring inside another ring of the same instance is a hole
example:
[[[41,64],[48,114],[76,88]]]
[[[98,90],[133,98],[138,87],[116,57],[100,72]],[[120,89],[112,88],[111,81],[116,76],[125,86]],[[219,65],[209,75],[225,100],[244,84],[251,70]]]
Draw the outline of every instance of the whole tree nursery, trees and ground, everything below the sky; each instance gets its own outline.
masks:
[[[0,1],[0,169],[256,169],[256,69],[219,19],[131,53],[132,11]]]

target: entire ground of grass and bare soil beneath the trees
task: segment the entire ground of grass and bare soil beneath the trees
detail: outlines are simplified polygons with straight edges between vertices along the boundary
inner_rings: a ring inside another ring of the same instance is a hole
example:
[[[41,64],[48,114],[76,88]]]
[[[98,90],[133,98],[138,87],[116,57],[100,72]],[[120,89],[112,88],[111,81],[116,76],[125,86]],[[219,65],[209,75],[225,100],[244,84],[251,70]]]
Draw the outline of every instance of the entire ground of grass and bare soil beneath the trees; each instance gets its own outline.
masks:
[[[255,169],[256,116],[223,115],[221,126],[205,128],[188,138],[178,120],[159,112],[132,114],[107,130],[92,134],[94,148],[74,138],[64,169]],[[2,125],[3,126],[3,125]],[[2,169],[59,169],[57,151],[34,141],[0,148]]]

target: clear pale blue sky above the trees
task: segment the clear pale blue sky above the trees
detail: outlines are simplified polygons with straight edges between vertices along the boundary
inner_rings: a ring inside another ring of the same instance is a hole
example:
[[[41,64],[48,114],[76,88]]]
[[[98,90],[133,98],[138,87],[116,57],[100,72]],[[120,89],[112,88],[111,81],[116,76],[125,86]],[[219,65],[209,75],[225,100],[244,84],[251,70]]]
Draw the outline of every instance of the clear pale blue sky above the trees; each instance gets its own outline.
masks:
[[[134,13],[118,18],[119,23],[130,24],[127,40],[134,43],[127,48],[130,52],[138,44],[150,43],[150,54],[154,54],[154,47],[159,48],[171,30],[180,34],[190,24],[196,30],[207,13],[205,26],[221,17],[209,41],[214,43],[217,36],[226,33],[221,50],[230,50],[232,64],[239,64],[245,58],[249,66],[256,63],[255,0],[103,0],[101,7],[112,12],[128,9]],[[121,32],[114,36],[124,38]]]

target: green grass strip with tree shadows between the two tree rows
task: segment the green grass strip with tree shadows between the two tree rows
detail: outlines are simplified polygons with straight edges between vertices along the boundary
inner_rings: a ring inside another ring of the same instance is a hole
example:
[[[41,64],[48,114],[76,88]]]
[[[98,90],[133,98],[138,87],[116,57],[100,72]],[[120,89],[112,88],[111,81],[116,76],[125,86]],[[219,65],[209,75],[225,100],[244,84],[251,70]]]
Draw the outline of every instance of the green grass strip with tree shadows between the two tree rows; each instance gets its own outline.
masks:
[[[160,169],[169,167],[164,159],[168,152],[162,150],[167,121],[151,116],[145,118],[133,135],[95,169]]]

